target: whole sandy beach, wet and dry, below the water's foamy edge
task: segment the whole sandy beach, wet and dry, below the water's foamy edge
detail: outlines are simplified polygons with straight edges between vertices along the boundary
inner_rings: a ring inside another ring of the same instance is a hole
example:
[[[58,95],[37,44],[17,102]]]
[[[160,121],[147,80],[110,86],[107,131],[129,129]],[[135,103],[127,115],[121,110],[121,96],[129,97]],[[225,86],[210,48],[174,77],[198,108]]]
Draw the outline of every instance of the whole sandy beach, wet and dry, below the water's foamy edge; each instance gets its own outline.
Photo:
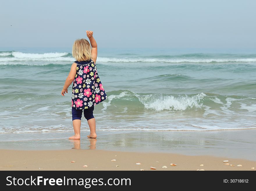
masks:
[[[0,170],[255,170],[255,132],[119,131],[99,132],[97,139],[83,133],[81,140],[46,139],[46,133],[42,140],[1,141]]]

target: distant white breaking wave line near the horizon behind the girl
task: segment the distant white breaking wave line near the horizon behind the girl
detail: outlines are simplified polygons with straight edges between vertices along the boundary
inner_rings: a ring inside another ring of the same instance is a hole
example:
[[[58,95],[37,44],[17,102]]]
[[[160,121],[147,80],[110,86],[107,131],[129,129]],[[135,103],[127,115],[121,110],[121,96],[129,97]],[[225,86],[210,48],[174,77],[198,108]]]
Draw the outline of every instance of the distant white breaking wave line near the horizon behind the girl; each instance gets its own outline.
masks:
[[[115,58],[115,57],[98,57],[97,62],[100,63],[251,63],[256,62],[255,56],[250,55],[251,57],[247,58],[232,58],[229,55],[229,58],[202,58],[202,55],[199,55],[198,58],[195,56],[189,57],[186,55],[186,58],[180,58],[181,56],[171,56],[171,58],[166,58],[166,56],[156,56],[155,58],[148,57],[130,57],[130,58]],[[178,58],[177,58],[178,57]],[[209,57],[209,56],[207,56]],[[65,61],[73,62],[75,59],[70,53],[67,52],[52,52],[52,53],[23,53],[18,51],[6,51],[0,52],[0,64],[3,65],[7,62],[24,62],[24,61]],[[34,63],[34,65],[37,65]]]

